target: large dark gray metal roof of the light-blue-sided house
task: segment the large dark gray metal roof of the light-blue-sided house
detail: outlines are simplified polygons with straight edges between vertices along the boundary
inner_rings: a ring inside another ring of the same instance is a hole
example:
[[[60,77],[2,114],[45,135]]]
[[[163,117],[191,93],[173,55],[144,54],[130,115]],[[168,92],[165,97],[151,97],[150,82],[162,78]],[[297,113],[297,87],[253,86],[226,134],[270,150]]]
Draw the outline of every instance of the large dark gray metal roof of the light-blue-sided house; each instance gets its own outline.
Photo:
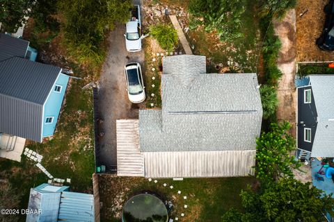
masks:
[[[61,68],[13,57],[0,62],[0,132],[40,142],[43,105]]]

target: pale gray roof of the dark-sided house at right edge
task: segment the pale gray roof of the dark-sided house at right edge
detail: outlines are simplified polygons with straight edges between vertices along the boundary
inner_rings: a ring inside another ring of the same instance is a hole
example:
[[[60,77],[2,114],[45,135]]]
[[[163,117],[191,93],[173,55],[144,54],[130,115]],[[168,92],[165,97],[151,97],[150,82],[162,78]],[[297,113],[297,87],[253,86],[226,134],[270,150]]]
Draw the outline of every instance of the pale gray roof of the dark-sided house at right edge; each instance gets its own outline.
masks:
[[[334,76],[311,75],[310,84],[318,114],[312,157],[334,157]]]

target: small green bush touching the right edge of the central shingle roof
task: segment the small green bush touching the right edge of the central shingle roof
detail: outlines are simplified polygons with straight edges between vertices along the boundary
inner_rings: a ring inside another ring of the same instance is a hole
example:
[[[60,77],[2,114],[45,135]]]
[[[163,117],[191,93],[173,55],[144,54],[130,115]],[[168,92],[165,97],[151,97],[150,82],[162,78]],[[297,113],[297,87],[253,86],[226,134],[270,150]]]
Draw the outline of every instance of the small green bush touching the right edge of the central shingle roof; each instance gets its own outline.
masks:
[[[274,87],[263,85],[260,87],[263,119],[269,119],[276,114],[278,107],[277,91]]]

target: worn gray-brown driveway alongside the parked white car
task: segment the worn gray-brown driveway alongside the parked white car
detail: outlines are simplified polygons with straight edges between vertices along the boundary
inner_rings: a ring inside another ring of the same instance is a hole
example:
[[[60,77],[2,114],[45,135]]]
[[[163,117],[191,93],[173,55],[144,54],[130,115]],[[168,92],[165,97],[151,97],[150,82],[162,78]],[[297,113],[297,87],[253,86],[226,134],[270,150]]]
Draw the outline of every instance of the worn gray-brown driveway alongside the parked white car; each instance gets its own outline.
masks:
[[[138,3],[138,1],[136,2]],[[119,25],[109,35],[109,51],[104,62],[99,87],[99,109],[104,119],[101,130],[100,151],[97,162],[106,169],[116,165],[116,119],[138,119],[138,108],[144,104],[132,104],[125,90],[124,66],[139,62],[143,67],[143,51],[129,53],[125,48],[125,25]]]

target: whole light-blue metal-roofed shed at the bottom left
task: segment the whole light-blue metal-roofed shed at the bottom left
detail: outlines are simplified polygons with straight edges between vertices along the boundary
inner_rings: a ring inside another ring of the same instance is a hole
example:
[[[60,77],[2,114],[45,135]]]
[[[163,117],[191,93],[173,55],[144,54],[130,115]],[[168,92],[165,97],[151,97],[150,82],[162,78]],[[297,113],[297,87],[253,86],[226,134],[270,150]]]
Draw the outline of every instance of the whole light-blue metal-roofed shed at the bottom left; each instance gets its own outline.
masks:
[[[26,222],[95,221],[94,196],[43,183],[30,190]],[[40,213],[38,214],[38,211]]]

